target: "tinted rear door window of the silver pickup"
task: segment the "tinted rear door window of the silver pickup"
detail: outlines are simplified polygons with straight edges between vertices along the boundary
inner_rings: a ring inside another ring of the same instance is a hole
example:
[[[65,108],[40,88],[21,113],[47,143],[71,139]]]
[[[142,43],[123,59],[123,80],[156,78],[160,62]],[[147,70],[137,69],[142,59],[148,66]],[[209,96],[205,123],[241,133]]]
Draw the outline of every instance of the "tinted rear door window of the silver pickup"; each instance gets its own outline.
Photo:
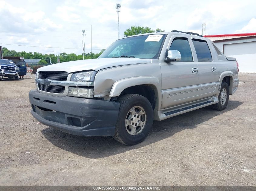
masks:
[[[198,62],[212,61],[211,52],[206,41],[192,39],[192,42],[195,47]]]

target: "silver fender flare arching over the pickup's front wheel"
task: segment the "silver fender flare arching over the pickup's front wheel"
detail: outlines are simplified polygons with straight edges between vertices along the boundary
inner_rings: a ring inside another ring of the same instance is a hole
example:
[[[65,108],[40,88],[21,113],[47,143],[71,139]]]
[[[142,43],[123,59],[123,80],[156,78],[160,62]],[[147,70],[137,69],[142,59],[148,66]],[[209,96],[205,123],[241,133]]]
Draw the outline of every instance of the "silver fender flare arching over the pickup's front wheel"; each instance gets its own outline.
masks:
[[[161,84],[158,78],[153,76],[140,76],[140,77],[132,77],[132,78],[125,78],[125,79],[118,80],[113,84],[109,97],[117,97],[126,88],[136,86],[136,85],[144,85],[144,84],[154,85],[158,92],[158,95],[156,96],[158,96],[159,100],[162,100]]]

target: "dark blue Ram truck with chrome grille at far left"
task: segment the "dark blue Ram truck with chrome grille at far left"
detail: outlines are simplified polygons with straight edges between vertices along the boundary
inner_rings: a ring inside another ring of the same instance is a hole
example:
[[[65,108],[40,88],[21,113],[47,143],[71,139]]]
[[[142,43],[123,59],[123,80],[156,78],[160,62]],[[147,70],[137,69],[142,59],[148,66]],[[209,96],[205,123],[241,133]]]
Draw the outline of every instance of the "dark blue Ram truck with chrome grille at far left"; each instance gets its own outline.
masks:
[[[3,77],[19,79],[20,69],[12,60],[0,59],[0,79]]]

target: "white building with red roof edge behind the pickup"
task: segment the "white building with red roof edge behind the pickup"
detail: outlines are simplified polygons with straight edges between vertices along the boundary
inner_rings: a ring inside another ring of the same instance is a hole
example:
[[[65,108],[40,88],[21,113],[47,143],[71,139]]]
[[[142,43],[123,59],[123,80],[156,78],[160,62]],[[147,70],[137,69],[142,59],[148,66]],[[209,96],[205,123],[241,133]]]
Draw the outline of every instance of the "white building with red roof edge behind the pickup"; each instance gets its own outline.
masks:
[[[256,72],[256,33],[205,35],[225,56],[235,57],[239,72]]]

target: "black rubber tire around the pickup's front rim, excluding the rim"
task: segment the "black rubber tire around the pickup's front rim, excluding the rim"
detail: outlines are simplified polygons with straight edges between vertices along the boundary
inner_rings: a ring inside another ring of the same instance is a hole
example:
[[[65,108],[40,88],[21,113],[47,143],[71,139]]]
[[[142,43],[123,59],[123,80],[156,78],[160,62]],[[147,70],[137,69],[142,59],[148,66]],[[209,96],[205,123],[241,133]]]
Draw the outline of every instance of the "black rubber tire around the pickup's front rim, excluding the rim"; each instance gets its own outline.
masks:
[[[120,103],[114,138],[124,145],[136,145],[149,134],[153,124],[153,109],[147,98],[138,94],[126,94],[118,98]],[[131,135],[127,131],[125,120],[131,108],[142,107],[146,114],[145,126],[138,135]]]

